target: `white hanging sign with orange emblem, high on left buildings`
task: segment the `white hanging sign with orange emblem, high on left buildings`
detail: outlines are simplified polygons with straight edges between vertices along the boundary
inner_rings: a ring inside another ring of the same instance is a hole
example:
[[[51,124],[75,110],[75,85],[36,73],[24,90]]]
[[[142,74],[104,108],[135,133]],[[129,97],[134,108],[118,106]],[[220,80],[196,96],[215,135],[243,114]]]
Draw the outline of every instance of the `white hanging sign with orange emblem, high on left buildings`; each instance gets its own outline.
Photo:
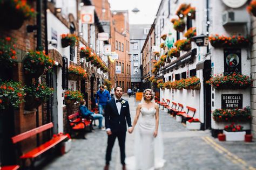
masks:
[[[80,15],[82,24],[94,24],[95,6],[82,6]]]

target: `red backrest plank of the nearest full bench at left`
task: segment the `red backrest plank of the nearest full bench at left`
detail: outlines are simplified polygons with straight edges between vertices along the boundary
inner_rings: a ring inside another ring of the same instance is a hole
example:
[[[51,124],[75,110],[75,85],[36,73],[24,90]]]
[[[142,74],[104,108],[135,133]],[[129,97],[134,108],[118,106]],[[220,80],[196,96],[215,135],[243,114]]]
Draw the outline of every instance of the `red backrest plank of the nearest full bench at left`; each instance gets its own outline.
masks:
[[[37,133],[43,132],[43,131],[45,131],[45,130],[47,130],[47,129],[50,129],[50,128],[52,128],[52,127],[53,127],[53,123],[51,122],[51,123],[42,125],[42,126],[40,126],[40,127],[38,127],[38,128],[31,129],[31,130],[26,131],[26,132],[24,132],[24,133],[18,134],[17,136],[14,136],[14,137],[11,138],[11,139],[12,139],[12,143],[15,144],[15,143],[17,143],[18,141],[21,141],[21,140],[24,140],[24,139],[26,139],[26,138],[29,138],[29,137],[31,137],[31,136],[37,134]]]

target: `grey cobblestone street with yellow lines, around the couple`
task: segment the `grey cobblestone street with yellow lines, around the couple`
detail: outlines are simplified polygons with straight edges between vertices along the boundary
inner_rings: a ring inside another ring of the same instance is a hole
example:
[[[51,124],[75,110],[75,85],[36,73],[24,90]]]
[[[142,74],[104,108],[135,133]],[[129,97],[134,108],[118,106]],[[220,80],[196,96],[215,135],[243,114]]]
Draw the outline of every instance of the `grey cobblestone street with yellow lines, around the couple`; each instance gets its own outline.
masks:
[[[127,98],[133,117],[139,102]],[[241,142],[220,142],[212,138],[209,130],[189,131],[169,114],[160,111],[160,125],[163,131],[166,164],[163,169],[255,169],[256,144]],[[96,129],[96,127],[95,127]],[[94,130],[86,134],[87,140],[73,139],[72,150],[56,157],[42,169],[103,169],[107,135],[105,131]],[[133,134],[126,134],[126,157],[133,155]],[[113,148],[110,169],[120,170],[118,141]]]

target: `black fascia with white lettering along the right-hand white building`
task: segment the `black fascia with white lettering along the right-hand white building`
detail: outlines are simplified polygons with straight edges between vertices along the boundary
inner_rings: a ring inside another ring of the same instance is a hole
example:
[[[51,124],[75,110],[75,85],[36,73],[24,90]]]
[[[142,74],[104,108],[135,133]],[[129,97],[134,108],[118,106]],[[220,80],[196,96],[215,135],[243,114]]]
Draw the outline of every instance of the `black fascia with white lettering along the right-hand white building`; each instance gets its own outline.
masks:
[[[197,54],[197,48],[194,48],[194,49],[192,49],[192,51],[187,52],[183,56],[180,56],[179,59],[177,59],[177,60],[171,62],[169,65],[161,68],[160,73],[168,72],[169,70],[173,70],[173,68],[183,65],[184,63],[192,62],[194,57],[196,56],[196,54]]]

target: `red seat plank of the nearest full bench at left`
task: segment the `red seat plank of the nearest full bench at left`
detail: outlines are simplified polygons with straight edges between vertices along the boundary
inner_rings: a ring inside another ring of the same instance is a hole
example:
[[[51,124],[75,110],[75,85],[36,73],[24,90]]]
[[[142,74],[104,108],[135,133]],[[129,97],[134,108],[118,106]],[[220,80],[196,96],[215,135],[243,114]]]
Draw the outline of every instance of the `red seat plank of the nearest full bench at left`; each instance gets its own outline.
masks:
[[[66,139],[68,136],[66,136],[65,134],[62,136],[57,136],[52,138],[51,140],[47,141],[46,143],[44,143],[43,145],[23,154],[20,158],[21,159],[26,159],[26,158],[36,158],[38,155],[42,154],[43,152],[49,150],[50,148],[52,148],[53,146],[57,145],[58,143],[60,143],[60,141]]]

